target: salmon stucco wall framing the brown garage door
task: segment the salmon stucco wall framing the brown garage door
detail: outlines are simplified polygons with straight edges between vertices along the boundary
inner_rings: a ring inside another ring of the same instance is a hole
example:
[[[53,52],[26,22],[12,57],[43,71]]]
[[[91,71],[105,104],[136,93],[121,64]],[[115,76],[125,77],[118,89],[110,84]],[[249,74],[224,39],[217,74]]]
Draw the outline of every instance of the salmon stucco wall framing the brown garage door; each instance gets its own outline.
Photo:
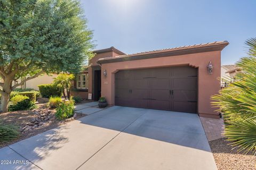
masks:
[[[115,73],[118,70],[142,69],[149,67],[189,65],[198,68],[198,114],[200,116],[218,118],[219,113],[211,106],[211,96],[220,90],[221,51],[186,54],[170,57],[149,58],[101,65],[101,73],[107,71],[107,77],[101,78],[101,95],[105,96],[109,105],[115,105]],[[207,72],[211,61],[213,73]]]

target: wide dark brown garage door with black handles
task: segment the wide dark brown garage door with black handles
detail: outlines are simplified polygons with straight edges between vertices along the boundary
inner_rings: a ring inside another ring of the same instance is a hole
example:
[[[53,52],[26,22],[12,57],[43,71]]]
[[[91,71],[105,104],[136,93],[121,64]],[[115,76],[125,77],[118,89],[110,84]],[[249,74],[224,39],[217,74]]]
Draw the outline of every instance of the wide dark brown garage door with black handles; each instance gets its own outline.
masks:
[[[197,112],[197,69],[123,70],[115,74],[115,105]]]

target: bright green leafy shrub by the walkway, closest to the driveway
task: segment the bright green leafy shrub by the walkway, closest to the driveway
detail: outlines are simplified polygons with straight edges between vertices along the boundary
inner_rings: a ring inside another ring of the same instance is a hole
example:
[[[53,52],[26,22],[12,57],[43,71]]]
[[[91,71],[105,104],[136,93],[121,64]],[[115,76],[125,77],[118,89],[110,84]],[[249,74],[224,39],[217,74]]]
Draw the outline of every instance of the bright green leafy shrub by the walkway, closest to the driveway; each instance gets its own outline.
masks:
[[[70,97],[70,100],[63,101],[58,107],[57,112],[55,113],[55,116],[58,118],[58,120],[65,120],[66,118],[70,118],[74,115],[74,100],[72,97]]]

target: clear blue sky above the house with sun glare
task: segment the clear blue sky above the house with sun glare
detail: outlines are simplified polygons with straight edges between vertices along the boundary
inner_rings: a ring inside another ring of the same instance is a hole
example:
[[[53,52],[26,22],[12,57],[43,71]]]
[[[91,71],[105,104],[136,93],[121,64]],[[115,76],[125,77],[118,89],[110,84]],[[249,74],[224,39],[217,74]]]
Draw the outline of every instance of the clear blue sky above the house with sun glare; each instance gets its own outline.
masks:
[[[126,54],[227,40],[222,65],[246,55],[256,37],[255,0],[81,0],[96,49]]]

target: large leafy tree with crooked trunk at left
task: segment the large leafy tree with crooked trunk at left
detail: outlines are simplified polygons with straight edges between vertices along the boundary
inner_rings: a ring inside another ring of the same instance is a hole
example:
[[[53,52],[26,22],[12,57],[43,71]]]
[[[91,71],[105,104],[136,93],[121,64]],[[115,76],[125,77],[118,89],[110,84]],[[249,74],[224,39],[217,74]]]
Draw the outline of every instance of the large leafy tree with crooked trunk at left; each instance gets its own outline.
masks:
[[[1,111],[11,91],[42,73],[81,71],[92,31],[76,0],[0,0]],[[20,83],[13,81],[20,78]]]

